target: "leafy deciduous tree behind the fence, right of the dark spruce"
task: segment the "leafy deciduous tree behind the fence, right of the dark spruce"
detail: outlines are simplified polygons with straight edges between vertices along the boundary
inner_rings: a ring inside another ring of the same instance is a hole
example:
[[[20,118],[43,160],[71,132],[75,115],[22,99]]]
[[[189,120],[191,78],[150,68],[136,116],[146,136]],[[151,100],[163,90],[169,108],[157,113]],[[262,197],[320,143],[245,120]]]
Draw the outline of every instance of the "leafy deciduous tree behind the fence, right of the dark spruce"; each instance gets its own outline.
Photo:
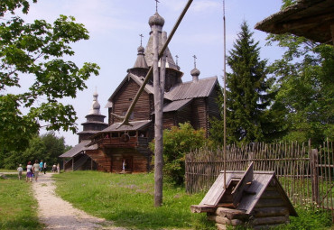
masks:
[[[283,0],[282,9],[295,2]],[[283,140],[334,140],[333,47],[292,34],[270,34],[267,40],[285,49],[269,68],[278,79],[275,101],[285,110]]]

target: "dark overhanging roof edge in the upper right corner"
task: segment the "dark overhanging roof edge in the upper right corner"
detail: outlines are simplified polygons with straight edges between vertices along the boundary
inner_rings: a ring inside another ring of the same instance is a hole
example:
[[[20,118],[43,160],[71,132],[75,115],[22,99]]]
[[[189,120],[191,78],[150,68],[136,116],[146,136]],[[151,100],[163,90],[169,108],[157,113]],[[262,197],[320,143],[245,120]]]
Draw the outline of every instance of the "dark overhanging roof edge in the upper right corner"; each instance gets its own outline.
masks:
[[[333,0],[299,0],[295,5],[256,23],[255,29],[276,34],[290,32],[312,41],[330,43],[334,35],[330,32],[334,30],[333,20]]]

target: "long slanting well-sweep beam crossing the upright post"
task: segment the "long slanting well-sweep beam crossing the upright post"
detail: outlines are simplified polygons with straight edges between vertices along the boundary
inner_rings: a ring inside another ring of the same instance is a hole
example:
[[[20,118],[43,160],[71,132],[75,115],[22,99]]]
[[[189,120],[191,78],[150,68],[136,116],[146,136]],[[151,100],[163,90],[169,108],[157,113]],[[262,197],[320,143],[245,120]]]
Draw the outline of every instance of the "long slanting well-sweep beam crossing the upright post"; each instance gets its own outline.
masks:
[[[176,32],[176,30],[178,29],[184,15],[187,13],[191,3],[192,3],[193,0],[189,0],[187,5],[184,7],[182,13],[180,14],[178,20],[176,21],[176,23],[174,24],[174,27],[172,28],[172,32],[170,33],[170,35],[168,36],[167,38],[167,41],[163,44],[162,46],[162,50],[159,52],[159,59],[162,58],[162,54],[164,53],[164,51],[166,51],[169,43],[171,42],[172,40],[172,37],[174,35],[174,33]],[[125,116],[119,116],[119,115],[116,115],[117,117],[121,118],[121,119],[124,119],[122,124],[120,124],[117,128],[121,127],[122,125],[129,125],[129,118],[130,118],[130,115],[132,114],[132,112],[134,111],[134,108],[135,108],[135,104],[137,103],[139,97],[141,96],[141,94],[143,93],[144,91],[144,88],[146,86],[146,84],[148,83],[148,81],[150,80],[151,76],[152,76],[152,73],[153,73],[153,66],[150,67],[150,69],[148,70],[146,76],[145,76],[145,79],[144,79],[144,82],[143,82],[143,85],[139,88],[137,94],[135,95],[135,98],[133,100],[133,102],[131,103],[130,107],[127,109],[127,112],[125,114]],[[114,114],[111,114],[111,115],[114,115]]]

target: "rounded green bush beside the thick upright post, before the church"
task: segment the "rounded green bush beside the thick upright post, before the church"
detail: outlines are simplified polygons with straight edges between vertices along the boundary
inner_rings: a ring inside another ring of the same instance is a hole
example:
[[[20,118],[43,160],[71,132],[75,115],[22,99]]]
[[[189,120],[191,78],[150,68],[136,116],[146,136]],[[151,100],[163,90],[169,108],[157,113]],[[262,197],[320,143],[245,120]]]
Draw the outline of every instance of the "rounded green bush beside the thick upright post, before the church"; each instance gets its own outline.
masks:
[[[203,129],[195,130],[191,124],[179,124],[163,131],[163,176],[175,185],[183,185],[186,153],[209,142]],[[154,142],[150,144],[154,150]]]

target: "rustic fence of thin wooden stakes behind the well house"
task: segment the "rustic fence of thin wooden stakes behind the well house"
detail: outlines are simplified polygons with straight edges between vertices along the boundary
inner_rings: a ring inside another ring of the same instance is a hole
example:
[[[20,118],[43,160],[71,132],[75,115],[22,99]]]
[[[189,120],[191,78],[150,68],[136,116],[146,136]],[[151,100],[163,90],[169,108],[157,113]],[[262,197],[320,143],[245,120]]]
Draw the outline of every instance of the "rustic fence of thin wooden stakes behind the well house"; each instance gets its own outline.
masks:
[[[274,170],[295,205],[317,205],[334,210],[333,143],[319,149],[311,143],[250,143],[227,146],[226,170]],[[186,189],[189,193],[208,190],[224,170],[223,150],[201,149],[186,155]]]

